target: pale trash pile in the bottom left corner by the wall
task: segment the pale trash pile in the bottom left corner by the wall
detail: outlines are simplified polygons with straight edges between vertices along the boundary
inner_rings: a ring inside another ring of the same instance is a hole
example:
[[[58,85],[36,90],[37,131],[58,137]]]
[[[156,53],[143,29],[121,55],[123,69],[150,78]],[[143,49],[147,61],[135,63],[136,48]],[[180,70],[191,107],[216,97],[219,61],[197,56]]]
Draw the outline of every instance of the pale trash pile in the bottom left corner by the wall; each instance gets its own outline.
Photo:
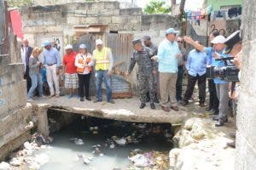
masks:
[[[32,142],[25,142],[23,144],[23,150],[15,152],[9,161],[10,167],[17,167],[20,169],[21,166],[26,167],[26,169],[39,169],[45,163],[49,161],[49,156],[46,154],[35,155],[35,150],[50,149],[48,144],[53,142],[53,138],[45,138],[40,133],[35,133],[32,135]],[[7,164],[3,164],[7,167]],[[7,168],[8,169],[8,168]],[[13,168],[10,168],[13,169]]]

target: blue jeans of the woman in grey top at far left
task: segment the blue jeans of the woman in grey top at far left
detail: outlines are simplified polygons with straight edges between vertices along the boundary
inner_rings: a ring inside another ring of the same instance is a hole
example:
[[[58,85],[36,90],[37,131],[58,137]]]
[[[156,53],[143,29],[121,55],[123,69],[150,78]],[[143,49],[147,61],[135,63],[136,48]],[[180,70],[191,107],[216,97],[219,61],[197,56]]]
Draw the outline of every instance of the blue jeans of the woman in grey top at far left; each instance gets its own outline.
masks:
[[[32,86],[31,88],[29,88],[29,91],[27,93],[27,98],[32,98],[35,89],[38,87],[38,91],[39,91],[39,95],[42,96],[43,95],[43,81],[42,81],[42,76],[40,73],[38,74],[33,74],[30,75],[31,77],[31,81],[32,81]]]

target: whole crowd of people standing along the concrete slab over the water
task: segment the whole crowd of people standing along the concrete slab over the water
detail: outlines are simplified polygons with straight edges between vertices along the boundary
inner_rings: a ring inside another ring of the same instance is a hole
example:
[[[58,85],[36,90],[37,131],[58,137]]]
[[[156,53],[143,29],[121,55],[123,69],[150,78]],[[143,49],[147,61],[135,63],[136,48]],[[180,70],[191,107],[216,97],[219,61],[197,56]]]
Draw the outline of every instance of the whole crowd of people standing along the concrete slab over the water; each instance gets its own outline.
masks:
[[[155,103],[161,102],[163,111],[179,111],[178,105],[189,105],[193,96],[195,83],[198,84],[199,106],[206,106],[206,84],[208,84],[209,104],[207,111],[217,121],[216,126],[223,126],[228,121],[229,100],[235,99],[237,84],[231,85],[219,77],[207,80],[207,66],[224,66],[224,61],[218,60],[228,56],[236,56],[241,51],[240,31],[225,38],[212,32],[209,36],[209,47],[204,47],[201,42],[194,41],[191,37],[177,37],[173,28],[166,30],[166,38],[157,47],[151,37],[135,39],[131,42],[134,52],[125,76],[129,77],[137,64],[137,79],[139,82],[140,101],[139,107],[143,109],[147,102],[150,108],[155,109]],[[185,43],[186,42],[186,43]],[[185,44],[192,45],[195,49],[188,52]],[[237,45],[238,44],[238,45]],[[105,84],[107,101],[112,99],[111,75],[113,69],[113,54],[111,48],[105,47],[101,39],[96,40],[96,49],[88,52],[87,44],[79,44],[79,51],[73,50],[68,44],[66,54],[61,60],[57,49],[49,41],[44,42],[43,48],[31,48],[28,41],[23,41],[21,48],[22,62],[25,64],[24,77],[27,81],[27,100],[32,101],[35,89],[38,87],[39,97],[45,98],[43,83],[49,86],[49,97],[59,97],[59,74],[61,63],[65,72],[64,86],[68,89],[67,98],[73,96],[84,101],[90,98],[91,71],[95,71],[96,100],[102,101],[102,82]],[[39,55],[42,53],[42,58]],[[235,59],[237,60],[237,59]],[[235,61],[236,62],[236,61]],[[236,62],[237,64],[237,62]],[[188,84],[182,96],[184,71],[188,75]],[[46,72],[46,78],[45,78]],[[42,79],[42,73],[44,73]],[[79,93],[77,93],[79,92]],[[229,92],[231,92],[229,97]],[[85,98],[84,98],[85,96]],[[160,101],[159,101],[160,97]]]

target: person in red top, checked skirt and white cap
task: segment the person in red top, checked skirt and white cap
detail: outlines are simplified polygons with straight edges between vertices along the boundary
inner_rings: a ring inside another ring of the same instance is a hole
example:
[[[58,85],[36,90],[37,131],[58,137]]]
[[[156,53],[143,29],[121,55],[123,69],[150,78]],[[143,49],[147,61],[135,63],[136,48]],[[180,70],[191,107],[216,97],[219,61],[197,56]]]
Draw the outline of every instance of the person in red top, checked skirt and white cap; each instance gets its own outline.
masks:
[[[72,45],[68,44],[66,46],[66,54],[63,57],[63,65],[65,71],[65,88],[68,88],[68,96],[67,98],[72,98],[73,94],[76,94],[77,89],[79,88],[78,85],[78,73],[77,67],[75,66],[75,59],[77,53],[73,51]]]

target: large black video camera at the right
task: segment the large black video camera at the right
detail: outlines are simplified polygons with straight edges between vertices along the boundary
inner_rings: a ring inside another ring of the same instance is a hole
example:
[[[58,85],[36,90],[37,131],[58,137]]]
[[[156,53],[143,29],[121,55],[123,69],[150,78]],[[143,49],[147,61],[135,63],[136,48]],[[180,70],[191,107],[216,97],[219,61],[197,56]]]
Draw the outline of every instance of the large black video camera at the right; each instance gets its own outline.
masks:
[[[224,61],[224,66],[223,67],[218,67],[218,66],[207,67],[207,78],[210,78],[210,79],[220,78],[225,82],[239,82],[239,79],[238,79],[239,70],[236,68],[236,65],[232,63],[231,61],[232,59],[234,59],[234,57],[215,59],[215,60]]]

